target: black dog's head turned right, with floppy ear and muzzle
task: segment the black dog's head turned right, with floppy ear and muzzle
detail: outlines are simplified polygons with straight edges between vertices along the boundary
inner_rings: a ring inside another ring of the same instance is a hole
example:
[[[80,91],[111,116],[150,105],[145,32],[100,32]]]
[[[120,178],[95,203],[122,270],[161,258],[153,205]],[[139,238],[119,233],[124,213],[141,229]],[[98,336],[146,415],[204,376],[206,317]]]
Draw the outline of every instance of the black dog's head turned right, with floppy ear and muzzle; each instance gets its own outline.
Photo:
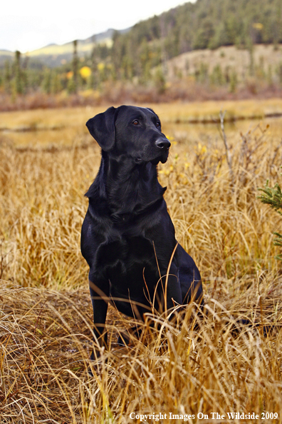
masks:
[[[135,163],[166,162],[170,142],[161,130],[160,118],[150,108],[108,108],[86,126],[103,151],[130,156]]]

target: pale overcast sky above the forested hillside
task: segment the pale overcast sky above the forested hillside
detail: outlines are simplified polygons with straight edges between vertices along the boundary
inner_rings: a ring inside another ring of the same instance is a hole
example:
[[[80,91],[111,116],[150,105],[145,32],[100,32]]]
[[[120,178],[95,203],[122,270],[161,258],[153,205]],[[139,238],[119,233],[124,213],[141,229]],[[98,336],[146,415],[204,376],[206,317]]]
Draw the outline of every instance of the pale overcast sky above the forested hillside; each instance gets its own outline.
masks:
[[[0,49],[24,53],[51,43],[86,39],[108,28],[128,28],[184,3],[181,0],[4,0],[0,9]]]

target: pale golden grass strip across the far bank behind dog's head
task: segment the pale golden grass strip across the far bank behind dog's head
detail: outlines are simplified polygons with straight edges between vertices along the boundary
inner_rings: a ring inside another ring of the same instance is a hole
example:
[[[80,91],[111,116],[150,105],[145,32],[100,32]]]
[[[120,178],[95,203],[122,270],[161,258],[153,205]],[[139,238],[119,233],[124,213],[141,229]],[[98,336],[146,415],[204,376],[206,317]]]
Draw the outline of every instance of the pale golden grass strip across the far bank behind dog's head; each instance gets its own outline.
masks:
[[[162,119],[162,123],[202,122],[219,118],[219,111],[226,110],[226,119],[251,119],[281,114],[282,99],[246,99],[238,101],[189,101],[139,106],[152,107]],[[108,105],[112,106],[112,105]],[[116,106],[119,106],[116,105]],[[56,129],[80,126],[84,128],[90,116],[105,111],[102,106],[80,106],[56,109],[36,108],[30,111],[1,112],[0,129]]]

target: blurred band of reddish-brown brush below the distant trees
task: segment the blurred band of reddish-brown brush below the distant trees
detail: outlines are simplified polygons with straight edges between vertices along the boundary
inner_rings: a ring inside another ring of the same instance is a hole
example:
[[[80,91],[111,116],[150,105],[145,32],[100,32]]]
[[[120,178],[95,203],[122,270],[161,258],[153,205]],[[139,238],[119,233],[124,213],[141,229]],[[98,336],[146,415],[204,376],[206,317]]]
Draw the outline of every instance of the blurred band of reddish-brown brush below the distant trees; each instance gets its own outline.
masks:
[[[78,106],[100,106],[108,104],[169,103],[172,101],[226,101],[241,99],[281,98],[282,89],[277,84],[249,79],[239,84],[232,93],[226,86],[200,84],[190,77],[183,77],[167,84],[160,92],[154,85],[147,86],[108,81],[100,91],[81,91],[79,94],[44,94],[34,91],[26,95],[12,96],[0,92],[0,111],[21,111],[37,108],[67,108]]]

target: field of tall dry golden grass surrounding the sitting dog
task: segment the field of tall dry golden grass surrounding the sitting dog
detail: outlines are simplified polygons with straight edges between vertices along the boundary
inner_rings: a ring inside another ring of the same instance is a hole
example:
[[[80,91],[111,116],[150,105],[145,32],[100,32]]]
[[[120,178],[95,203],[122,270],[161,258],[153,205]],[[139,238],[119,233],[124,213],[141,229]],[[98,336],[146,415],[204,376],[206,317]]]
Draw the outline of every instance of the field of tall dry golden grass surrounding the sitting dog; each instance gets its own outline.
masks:
[[[191,305],[182,325],[164,320],[153,333],[144,324],[142,340],[121,348],[117,334],[134,323],[110,308],[98,373],[88,360],[80,227],[99,148],[84,128],[70,127],[68,143],[42,145],[0,133],[0,424],[282,423],[282,276],[272,235],[282,221],[257,198],[266,179],[279,181],[281,139],[263,123],[232,135],[167,135],[160,182],[209,313],[201,318]],[[240,318],[252,325],[236,332]],[[235,412],[257,418],[229,419]]]

